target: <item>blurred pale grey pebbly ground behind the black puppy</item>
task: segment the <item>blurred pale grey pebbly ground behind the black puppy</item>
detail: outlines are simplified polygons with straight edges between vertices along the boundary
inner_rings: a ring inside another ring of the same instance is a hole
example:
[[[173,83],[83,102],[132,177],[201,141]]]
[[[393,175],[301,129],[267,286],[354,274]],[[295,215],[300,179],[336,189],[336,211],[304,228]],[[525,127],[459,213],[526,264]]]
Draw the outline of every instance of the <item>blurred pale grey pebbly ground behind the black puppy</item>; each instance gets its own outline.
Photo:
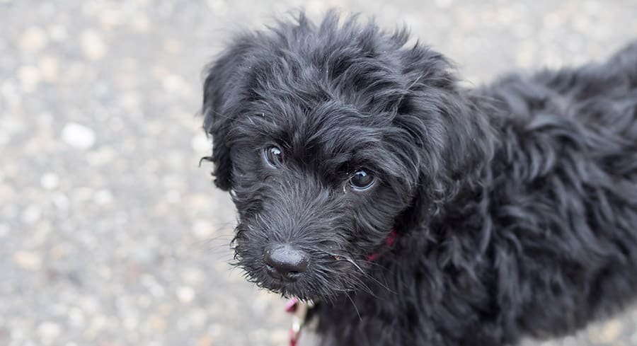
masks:
[[[474,85],[637,38],[635,0],[0,0],[0,346],[287,345],[284,301],[227,265],[201,72],[234,30],[331,7],[408,25]],[[636,325],[526,345],[637,345]]]

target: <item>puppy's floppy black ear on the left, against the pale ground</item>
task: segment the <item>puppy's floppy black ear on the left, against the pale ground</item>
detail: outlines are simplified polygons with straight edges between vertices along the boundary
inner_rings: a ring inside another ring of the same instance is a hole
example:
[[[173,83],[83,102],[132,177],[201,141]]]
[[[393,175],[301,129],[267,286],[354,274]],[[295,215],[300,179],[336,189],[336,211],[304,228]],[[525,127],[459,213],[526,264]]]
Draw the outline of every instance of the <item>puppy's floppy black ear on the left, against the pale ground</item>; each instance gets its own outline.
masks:
[[[217,188],[232,188],[232,161],[230,157],[229,132],[236,115],[229,111],[233,97],[238,97],[241,84],[240,71],[251,45],[245,38],[236,40],[231,47],[207,67],[203,86],[202,115],[204,129],[212,136],[212,156],[206,157],[214,163],[214,183]],[[236,100],[234,100],[236,101]]]

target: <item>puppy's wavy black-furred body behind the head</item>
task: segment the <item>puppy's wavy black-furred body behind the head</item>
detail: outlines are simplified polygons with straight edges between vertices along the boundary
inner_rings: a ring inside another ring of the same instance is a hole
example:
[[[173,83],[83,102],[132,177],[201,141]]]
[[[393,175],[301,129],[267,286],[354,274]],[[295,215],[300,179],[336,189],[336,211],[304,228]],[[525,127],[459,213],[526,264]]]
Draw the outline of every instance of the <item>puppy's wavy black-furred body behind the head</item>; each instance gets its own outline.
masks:
[[[636,295],[637,45],[471,95],[497,133],[493,160],[379,258],[389,289],[321,308],[326,345],[504,345]]]

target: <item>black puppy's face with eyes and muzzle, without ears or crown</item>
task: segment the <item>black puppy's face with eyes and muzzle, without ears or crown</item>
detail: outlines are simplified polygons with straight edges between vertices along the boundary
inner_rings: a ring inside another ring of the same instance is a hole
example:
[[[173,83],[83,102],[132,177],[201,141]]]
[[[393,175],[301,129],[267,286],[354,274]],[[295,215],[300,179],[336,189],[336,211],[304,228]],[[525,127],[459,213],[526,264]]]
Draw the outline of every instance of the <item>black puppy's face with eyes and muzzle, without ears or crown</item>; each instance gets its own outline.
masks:
[[[246,103],[233,125],[235,250],[258,284],[311,298],[359,280],[406,208],[415,177],[406,181],[399,153],[384,140],[401,135],[390,116],[337,100],[304,106],[309,100],[291,92]]]

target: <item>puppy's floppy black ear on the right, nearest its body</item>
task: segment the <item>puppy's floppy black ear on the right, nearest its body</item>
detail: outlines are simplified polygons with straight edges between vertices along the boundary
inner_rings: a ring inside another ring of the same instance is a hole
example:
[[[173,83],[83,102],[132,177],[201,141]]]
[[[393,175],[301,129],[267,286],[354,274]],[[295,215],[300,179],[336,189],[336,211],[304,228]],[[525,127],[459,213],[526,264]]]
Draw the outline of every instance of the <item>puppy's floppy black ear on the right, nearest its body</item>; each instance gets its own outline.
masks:
[[[427,47],[401,54],[408,90],[396,120],[411,134],[418,160],[418,191],[406,217],[422,222],[477,178],[493,157],[495,135],[488,117],[460,88],[452,65]]]

